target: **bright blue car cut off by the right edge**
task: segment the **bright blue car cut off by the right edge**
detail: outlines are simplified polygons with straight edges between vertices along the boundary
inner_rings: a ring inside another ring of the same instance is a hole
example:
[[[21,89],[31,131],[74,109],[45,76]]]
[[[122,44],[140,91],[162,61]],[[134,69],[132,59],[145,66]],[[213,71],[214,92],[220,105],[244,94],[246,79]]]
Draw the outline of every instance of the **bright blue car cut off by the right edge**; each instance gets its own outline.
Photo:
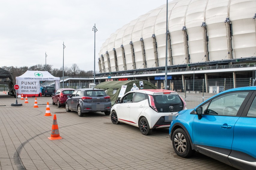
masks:
[[[195,151],[238,169],[256,169],[256,86],[221,92],[181,110],[169,129],[176,154]]]

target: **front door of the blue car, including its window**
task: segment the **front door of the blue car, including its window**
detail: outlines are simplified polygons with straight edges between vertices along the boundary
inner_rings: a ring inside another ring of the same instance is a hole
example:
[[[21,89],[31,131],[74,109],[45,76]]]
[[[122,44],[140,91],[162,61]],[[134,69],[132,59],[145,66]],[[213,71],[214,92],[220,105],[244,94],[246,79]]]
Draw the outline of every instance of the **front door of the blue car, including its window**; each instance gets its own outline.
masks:
[[[241,112],[239,109],[247,94],[248,92],[226,93],[201,106],[202,118],[198,119],[196,116],[193,122],[196,149],[208,156],[212,154],[209,150],[216,150],[223,156],[222,161],[230,164],[227,156],[231,152],[234,125],[239,119],[236,115]]]

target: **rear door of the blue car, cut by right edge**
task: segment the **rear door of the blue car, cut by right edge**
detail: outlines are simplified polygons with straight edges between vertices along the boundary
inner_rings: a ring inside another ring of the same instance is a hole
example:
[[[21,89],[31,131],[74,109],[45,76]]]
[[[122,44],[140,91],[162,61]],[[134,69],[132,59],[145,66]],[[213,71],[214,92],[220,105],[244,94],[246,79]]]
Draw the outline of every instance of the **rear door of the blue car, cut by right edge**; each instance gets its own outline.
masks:
[[[232,144],[232,151],[229,155],[229,160],[236,168],[256,169],[255,122],[256,97],[252,97],[249,99],[244,112],[237,120],[234,128],[234,139]]]

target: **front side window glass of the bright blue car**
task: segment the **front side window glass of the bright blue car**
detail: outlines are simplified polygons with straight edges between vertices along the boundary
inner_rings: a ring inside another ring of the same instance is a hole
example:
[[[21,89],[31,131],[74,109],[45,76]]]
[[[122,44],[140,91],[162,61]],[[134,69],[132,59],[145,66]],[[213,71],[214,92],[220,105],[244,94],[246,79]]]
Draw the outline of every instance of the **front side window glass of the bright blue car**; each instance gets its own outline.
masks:
[[[249,92],[233,92],[212,99],[205,114],[236,116]]]

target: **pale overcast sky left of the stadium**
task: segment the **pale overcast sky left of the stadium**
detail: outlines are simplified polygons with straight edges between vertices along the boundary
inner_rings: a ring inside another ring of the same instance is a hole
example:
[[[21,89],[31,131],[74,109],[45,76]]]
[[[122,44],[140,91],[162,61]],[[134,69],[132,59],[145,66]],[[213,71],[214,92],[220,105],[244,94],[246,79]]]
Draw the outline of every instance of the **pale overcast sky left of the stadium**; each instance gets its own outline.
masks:
[[[170,0],[169,0],[170,1]],[[102,44],[123,25],[165,0],[0,0],[0,67],[76,63],[93,70],[94,23],[96,71]]]

